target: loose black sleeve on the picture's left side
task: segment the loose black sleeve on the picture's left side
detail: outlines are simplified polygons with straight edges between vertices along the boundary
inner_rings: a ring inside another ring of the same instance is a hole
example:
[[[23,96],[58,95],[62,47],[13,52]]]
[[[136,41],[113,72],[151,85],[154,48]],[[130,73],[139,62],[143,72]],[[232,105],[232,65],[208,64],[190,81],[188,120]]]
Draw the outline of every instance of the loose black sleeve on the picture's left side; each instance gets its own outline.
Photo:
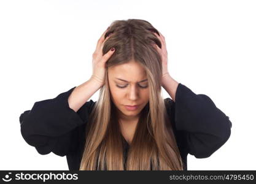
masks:
[[[85,127],[95,102],[85,102],[75,112],[68,104],[68,97],[74,88],[76,86],[56,98],[35,102],[31,110],[20,115],[23,139],[41,155],[52,151],[65,156],[78,146],[79,128]]]

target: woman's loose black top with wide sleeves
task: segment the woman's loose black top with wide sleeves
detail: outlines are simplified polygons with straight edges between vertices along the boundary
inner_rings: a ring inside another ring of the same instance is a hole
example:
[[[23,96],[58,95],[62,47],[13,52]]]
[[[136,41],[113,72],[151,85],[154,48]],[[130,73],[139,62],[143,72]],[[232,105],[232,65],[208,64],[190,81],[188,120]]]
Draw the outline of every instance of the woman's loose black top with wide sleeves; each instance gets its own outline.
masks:
[[[74,88],[76,86],[56,98],[35,102],[31,110],[20,115],[21,135],[25,141],[41,155],[52,151],[66,156],[70,171],[79,170],[85,127],[95,104],[92,100],[87,101],[77,112],[69,108],[68,97]],[[232,123],[229,117],[205,94],[195,94],[179,83],[176,101],[166,98],[165,103],[184,170],[187,170],[188,153],[196,158],[207,158],[230,137]],[[125,158],[128,148],[125,140]]]

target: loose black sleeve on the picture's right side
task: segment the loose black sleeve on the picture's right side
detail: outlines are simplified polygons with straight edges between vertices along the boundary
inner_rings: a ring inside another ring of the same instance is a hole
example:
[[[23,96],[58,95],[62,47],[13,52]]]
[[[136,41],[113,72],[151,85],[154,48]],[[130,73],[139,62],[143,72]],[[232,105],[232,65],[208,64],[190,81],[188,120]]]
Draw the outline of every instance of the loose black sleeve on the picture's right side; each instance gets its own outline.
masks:
[[[207,158],[230,137],[232,123],[205,94],[195,94],[179,83],[175,102],[170,98],[168,113],[173,117],[174,132],[181,150],[196,158]]]

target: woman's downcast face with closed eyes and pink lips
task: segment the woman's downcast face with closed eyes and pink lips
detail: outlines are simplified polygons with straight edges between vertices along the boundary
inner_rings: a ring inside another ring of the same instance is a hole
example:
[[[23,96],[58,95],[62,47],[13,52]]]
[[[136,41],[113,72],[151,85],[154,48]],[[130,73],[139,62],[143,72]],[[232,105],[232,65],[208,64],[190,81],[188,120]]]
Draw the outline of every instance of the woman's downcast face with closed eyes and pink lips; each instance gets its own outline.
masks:
[[[139,113],[149,102],[149,87],[145,69],[135,61],[113,66],[108,69],[109,88],[112,101],[127,120],[138,118]],[[126,105],[138,105],[127,109]]]

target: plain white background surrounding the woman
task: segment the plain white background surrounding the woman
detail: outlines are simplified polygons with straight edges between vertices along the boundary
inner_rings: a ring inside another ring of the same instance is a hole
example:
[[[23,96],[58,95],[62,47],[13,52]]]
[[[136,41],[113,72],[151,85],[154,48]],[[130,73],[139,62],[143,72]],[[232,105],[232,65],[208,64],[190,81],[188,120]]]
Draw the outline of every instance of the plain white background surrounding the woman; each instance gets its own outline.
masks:
[[[188,155],[188,170],[255,170],[255,9],[244,0],[0,1],[0,169],[68,170],[65,156],[26,144],[20,114],[88,80],[99,36],[114,20],[138,18],[165,36],[171,76],[233,123],[209,158]]]

